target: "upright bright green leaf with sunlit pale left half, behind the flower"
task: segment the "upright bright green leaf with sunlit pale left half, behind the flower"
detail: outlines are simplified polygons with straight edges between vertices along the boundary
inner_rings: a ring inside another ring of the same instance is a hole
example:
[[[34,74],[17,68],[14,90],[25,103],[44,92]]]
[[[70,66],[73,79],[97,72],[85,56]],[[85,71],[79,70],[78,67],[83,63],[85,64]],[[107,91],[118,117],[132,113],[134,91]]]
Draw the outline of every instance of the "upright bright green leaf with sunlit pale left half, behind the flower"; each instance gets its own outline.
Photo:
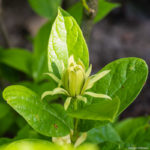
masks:
[[[57,69],[57,72],[59,71],[59,74],[62,75],[63,64],[67,67],[68,58],[71,55],[76,61],[81,59],[86,68],[88,67],[88,48],[81,29],[72,16],[59,9],[49,39],[49,71],[56,74],[55,70]]]

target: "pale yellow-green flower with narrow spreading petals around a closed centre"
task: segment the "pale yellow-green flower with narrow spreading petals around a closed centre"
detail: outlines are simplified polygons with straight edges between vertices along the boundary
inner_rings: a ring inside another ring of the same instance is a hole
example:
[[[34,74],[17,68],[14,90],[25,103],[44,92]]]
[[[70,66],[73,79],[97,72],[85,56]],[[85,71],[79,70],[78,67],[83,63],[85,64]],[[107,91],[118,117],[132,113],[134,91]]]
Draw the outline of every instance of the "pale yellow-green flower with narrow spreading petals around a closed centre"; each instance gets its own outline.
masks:
[[[74,57],[71,56],[68,61],[68,67],[63,69],[63,76],[61,79],[52,73],[46,73],[58,83],[58,87],[53,91],[44,92],[41,98],[43,99],[47,95],[66,95],[67,99],[64,103],[65,110],[68,109],[72,99],[87,103],[87,95],[95,98],[105,98],[111,100],[111,97],[108,95],[89,91],[89,89],[91,89],[98,80],[106,76],[110,70],[104,70],[90,76],[91,71],[92,65],[90,65],[90,67],[86,70],[83,62],[80,59],[76,63]]]

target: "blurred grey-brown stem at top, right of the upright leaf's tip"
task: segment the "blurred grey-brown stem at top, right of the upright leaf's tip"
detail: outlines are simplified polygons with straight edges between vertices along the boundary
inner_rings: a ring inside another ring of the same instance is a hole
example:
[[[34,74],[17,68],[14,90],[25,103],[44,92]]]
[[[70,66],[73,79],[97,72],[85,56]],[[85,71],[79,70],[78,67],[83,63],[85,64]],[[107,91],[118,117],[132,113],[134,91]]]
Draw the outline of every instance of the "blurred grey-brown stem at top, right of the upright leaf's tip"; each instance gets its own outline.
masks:
[[[84,9],[82,31],[87,42],[91,34],[92,27],[94,25],[93,20],[97,13],[98,0],[81,0]]]

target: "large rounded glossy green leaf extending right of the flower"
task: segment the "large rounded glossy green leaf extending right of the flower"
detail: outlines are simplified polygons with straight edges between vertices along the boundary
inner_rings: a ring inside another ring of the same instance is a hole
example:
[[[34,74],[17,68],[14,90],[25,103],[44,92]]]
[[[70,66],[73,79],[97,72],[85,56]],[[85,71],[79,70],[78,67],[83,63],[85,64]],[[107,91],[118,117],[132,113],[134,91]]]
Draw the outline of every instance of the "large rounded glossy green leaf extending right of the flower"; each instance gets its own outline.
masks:
[[[122,58],[106,65],[100,72],[104,70],[110,70],[110,73],[96,82],[91,90],[111,98],[118,96],[120,99],[118,114],[120,114],[143,88],[148,75],[147,64],[140,58]]]

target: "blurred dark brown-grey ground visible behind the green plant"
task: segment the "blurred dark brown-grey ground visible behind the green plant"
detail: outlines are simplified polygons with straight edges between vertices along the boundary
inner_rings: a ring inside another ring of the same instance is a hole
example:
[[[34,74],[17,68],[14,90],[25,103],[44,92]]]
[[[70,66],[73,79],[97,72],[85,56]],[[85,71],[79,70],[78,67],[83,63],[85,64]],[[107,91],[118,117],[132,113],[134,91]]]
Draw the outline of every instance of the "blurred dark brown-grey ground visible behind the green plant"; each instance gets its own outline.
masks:
[[[99,71],[107,63],[122,57],[140,57],[150,66],[150,1],[118,0],[117,2],[121,3],[121,7],[114,9],[105,19],[93,26],[89,41],[93,72]],[[63,7],[66,7],[65,3]],[[2,8],[3,23],[1,25],[4,25],[7,30],[11,47],[32,51],[33,37],[47,19],[37,15],[27,0],[3,0]],[[2,47],[6,45],[3,34],[0,33]],[[3,67],[7,69],[7,66]],[[10,72],[9,76],[13,76],[13,73]],[[26,78],[22,72],[19,74],[20,81]],[[122,113],[121,119],[150,114],[149,83],[150,80],[147,81],[134,103]],[[0,77],[1,91],[8,84]]]

